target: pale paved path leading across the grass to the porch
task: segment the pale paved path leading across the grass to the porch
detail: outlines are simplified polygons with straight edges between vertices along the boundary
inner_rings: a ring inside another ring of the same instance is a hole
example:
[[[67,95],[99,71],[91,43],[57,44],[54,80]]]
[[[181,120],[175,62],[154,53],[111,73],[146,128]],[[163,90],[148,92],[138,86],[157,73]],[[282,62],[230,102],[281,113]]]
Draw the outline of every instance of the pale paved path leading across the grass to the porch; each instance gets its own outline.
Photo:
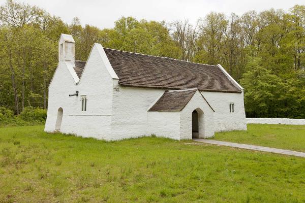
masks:
[[[218,140],[206,140],[206,139],[193,139],[193,140],[196,142],[207,143],[207,144],[212,144],[212,145],[221,145],[221,146],[236,147],[236,148],[249,149],[249,150],[255,150],[255,151],[271,152],[271,153],[277,153],[277,154],[305,157],[305,152],[297,152],[297,151],[291,151],[291,150],[286,150],[286,149],[277,149],[277,148],[262,147],[262,146],[256,146],[256,145],[239,144],[239,143],[230,143],[230,142],[224,142],[224,141],[218,141]]]

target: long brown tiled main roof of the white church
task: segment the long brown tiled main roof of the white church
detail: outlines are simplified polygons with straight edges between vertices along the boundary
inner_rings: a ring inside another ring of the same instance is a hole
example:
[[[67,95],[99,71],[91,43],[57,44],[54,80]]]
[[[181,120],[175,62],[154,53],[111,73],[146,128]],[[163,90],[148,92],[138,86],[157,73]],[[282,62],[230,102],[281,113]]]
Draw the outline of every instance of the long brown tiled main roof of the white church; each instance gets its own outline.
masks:
[[[107,48],[104,51],[119,78],[118,83],[123,86],[241,92],[217,65]]]

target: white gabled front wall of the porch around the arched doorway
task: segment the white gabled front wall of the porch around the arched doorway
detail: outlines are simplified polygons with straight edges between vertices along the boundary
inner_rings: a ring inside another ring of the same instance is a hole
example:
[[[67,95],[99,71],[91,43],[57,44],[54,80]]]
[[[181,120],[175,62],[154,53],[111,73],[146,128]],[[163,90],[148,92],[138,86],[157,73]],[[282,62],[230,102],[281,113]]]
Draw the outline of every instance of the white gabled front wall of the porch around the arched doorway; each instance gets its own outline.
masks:
[[[214,137],[214,114],[199,91],[196,91],[187,106],[180,113],[180,139],[192,139],[192,112],[199,117],[199,138]]]

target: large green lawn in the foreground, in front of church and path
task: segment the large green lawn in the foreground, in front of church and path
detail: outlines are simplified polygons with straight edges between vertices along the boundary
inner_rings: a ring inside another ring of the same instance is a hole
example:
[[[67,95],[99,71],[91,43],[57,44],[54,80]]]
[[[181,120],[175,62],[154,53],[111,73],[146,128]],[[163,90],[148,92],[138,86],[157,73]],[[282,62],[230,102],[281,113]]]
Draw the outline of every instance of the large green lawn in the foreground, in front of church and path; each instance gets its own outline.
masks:
[[[0,202],[305,202],[304,177],[305,158],[294,156],[0,128]]]

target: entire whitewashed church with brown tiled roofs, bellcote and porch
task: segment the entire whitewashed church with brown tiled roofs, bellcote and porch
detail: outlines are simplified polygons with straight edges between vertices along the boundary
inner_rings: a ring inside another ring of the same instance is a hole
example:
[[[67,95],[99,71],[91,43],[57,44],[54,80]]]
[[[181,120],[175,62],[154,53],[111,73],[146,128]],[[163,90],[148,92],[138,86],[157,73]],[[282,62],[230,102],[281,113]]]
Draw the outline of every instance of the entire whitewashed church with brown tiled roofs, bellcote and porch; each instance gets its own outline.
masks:
[[[62,34],[49,85],[45,131],[120,140],[175,140],[246,130],[243,88],[218,65],[150,56],[94,44],[87,61]]]

